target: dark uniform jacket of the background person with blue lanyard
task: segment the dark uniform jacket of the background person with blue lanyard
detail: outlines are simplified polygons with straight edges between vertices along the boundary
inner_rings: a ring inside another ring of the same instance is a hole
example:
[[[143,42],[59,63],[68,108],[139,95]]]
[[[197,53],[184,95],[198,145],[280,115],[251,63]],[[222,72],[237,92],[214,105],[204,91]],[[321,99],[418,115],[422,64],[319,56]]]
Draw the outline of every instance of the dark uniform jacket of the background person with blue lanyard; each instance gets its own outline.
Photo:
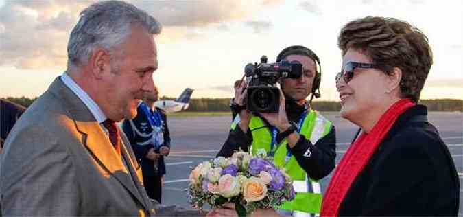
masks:
[[[161,146],[168,146],[170,148],[170,133],[169,127],[167,126],[167,116],[165,111],[156,107],[156,110],[161,112],[161,119],[163,121],[163,135],[164,135],[164,144]],[[137,109],[137,114],[134,119],[131,120],[137,130],[141,133],[152,133],[152,128],[150,127],[150,122],[148,121],[145,112],[141,109],[141,106]],[[154,176],[160,175],[163,176],[166,172],[164,157],[161,156],[157,161],[152,161],[146,158],[147,152],[152,148],[150,145],[141,146],[138,143],[147,141],[151,137],[142,137],[132,128],[129,120],[124,120],[122,124],[123,132],[126,134],[132,149],[134,150],[136,158],[139,160],[141,165],[141,171],[143,176]],[[159,150],[155,150],[156,153],[159,153]],[[157,164],[156,164],[157,162]],[[157,171],[156,171],[157,168]]]

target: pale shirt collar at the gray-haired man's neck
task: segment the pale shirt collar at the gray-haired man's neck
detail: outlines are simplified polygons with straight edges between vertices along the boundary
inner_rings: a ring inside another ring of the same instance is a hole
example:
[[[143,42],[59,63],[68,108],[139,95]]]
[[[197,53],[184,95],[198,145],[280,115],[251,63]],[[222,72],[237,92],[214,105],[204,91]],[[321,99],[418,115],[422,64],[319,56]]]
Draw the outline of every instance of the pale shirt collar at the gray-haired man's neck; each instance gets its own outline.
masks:
[[[67,75],[66,72],[62,73],[61,80],[78,96],[82,102],[84,102],[85,106],[90,110],[93,117],[97,120],[98,123],[104,122],[108,117],[104,115],[102,109],[99,108],[98,104],[92,100],[92,98],[81,88],[79,84],[77,84],[71,77]]]

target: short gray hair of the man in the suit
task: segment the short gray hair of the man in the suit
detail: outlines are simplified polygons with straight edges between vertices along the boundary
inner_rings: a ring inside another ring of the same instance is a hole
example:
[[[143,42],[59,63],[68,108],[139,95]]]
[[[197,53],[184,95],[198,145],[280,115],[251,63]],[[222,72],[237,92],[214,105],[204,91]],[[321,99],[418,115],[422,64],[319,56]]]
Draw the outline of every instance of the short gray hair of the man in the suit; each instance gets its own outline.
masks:
[[[80,19],[69,36],[68,70],[86,64],[97,47],[110,51],[140,25],[151,34],[161,32],[161,24],[143,10],[123,1],[102,1],[80,12]]]

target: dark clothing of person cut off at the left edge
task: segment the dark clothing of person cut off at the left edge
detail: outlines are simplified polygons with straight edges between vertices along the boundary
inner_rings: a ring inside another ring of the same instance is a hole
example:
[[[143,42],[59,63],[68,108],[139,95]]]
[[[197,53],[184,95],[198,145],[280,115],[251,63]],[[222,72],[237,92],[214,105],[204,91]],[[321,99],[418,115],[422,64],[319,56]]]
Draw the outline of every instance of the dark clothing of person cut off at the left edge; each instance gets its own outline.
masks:
[[[24,113],[25,108],[10,102],[0,99],[0,146],[3,147],[3,142],[6,141],[8,133],[10,133],[16,121]]]

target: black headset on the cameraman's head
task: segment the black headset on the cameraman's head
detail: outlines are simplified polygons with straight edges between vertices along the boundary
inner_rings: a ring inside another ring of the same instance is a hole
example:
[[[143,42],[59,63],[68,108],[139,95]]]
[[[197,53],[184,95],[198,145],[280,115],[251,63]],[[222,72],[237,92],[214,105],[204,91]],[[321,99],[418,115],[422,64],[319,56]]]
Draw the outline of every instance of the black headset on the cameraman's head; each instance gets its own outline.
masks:
[[[316,98],[320,98],[321,93],[320,93],[320,82],[322,82],[322,65],[320,65],[320,59],[318,58],[317,54],[315,54],[311,49],[301,46],[301,45],[294,45],[290,47],[286,47],[283,49],[280,54],[276,57],[276,62],[280,62],[283,60],[283,58],[286,58],[289,55],[303,55],[303,56],[309,56],[312,60],[314,60],[317,65],[318,69],[316,67],[316,72],[315,72],[315,78],[313,78],[313,84],[312,84],[312,95],[310,98],[309,102],[312,102],[313,97],[315,96]]]

